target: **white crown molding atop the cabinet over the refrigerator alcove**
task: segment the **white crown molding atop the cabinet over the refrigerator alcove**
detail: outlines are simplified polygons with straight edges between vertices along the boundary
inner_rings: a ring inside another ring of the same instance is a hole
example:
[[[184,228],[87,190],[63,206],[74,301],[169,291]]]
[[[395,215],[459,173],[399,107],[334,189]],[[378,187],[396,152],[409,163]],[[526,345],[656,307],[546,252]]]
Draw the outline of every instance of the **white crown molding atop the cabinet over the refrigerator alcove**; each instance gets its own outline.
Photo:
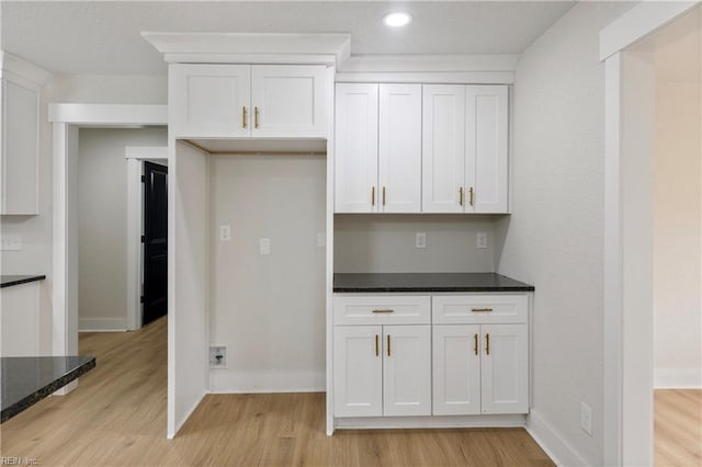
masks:
[[[350,34],[162,33],[144,37],[171,64],[296,62],[336,65],[350,55]],[[288,57],[283,59],[283,57]]]

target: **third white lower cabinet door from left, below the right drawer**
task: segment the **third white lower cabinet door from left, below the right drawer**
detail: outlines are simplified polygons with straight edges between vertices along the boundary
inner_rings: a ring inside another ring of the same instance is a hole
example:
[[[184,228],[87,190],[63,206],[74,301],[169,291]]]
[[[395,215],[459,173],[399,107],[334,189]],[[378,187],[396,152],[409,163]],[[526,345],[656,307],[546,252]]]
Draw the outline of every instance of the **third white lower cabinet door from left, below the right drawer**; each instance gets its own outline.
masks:
[[[433,414],[480,413],[480,327],[433,327]]]

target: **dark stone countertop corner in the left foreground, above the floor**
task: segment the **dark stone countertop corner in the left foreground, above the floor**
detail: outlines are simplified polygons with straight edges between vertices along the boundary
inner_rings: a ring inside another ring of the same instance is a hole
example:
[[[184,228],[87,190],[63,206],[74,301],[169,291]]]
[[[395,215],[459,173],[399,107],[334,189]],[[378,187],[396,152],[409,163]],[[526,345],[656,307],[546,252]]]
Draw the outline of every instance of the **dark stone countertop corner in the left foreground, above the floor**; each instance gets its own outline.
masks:
[[[4,356],[0,358],[0,423],[29,409],[95,367],[95,357]]]

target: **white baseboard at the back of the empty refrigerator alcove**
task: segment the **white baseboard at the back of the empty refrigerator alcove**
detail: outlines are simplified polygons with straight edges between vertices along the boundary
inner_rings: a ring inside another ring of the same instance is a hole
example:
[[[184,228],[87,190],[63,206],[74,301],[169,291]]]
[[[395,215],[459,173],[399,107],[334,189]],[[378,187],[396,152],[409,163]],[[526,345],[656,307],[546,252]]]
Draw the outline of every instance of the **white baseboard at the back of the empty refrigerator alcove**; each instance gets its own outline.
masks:
[[[324,372],[236,372],[210,371],[210,392],[324,392]]]

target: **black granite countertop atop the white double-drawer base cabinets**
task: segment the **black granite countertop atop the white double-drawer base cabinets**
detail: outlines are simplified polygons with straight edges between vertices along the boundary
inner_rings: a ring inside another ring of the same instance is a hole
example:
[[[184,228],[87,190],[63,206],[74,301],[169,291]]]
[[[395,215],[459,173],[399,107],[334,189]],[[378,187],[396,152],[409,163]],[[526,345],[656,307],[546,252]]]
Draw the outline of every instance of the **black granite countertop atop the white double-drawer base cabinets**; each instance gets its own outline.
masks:
[[[533,289],[533,285],[495,273],[333,275],[333,292],[531,292]]]

